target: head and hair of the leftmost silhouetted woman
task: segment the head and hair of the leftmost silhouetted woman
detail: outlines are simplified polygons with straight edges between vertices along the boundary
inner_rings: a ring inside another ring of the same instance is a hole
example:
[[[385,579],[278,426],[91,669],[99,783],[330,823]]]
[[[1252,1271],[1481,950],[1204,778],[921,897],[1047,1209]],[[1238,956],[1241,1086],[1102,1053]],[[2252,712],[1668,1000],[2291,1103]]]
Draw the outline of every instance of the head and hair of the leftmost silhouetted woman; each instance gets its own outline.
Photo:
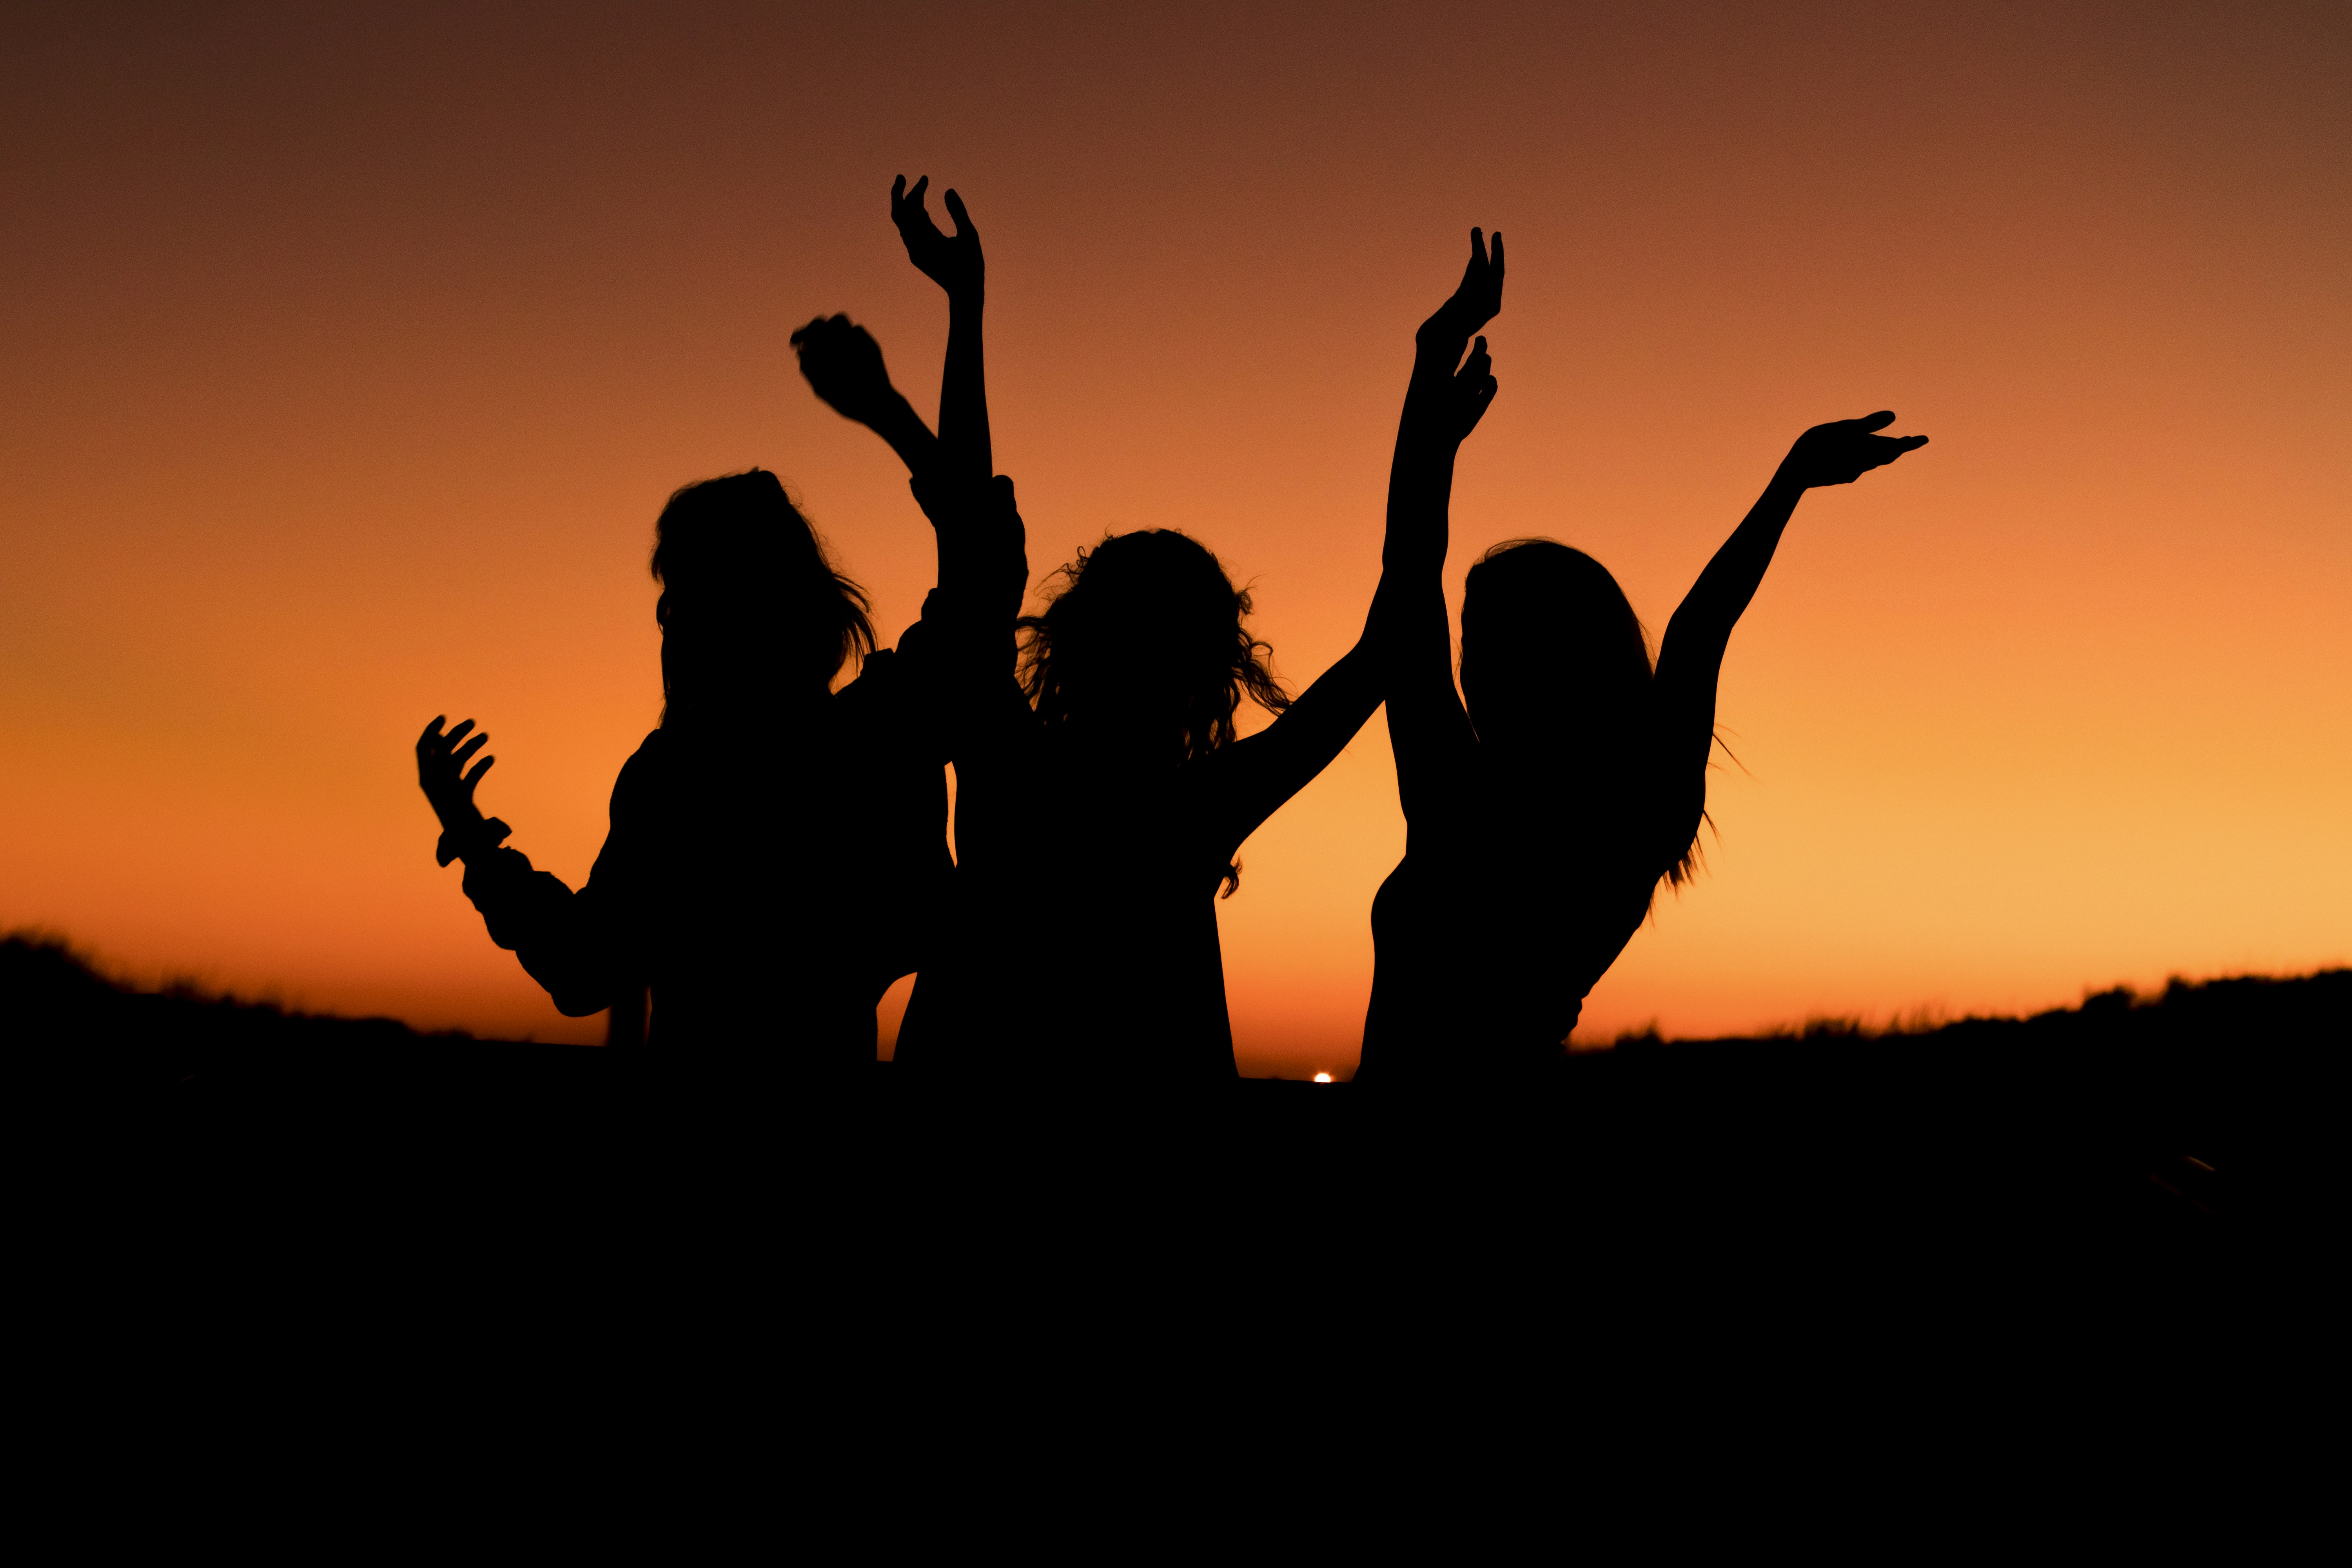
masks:
[[[833,569],[783,482],[687,484],[654,524],[663,724],[757,698],[821,696],[875,644],[866,592]]]

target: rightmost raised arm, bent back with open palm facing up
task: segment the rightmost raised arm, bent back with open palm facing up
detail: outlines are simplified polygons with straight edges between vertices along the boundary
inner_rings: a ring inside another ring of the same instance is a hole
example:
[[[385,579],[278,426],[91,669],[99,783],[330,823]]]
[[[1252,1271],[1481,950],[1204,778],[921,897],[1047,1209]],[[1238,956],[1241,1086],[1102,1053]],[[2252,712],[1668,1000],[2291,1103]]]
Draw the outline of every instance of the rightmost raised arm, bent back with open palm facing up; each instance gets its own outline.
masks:
[[[1665,766],[1705,769],[1708,748],[1715,743],[1715,684],[1724,670],[1731,628],[1764,583],[1764,569],[1771,567],[1780,531],[1804,491],[1816,484],[1853,484],[1872,468],[1926,447],[1924,435],[1877,435],[1893,421],[1893,414],[1882,411],[1870,418],[1837,418],[1799,435],[1748,517],[1682,597],[1658,649],[1656,696]]]

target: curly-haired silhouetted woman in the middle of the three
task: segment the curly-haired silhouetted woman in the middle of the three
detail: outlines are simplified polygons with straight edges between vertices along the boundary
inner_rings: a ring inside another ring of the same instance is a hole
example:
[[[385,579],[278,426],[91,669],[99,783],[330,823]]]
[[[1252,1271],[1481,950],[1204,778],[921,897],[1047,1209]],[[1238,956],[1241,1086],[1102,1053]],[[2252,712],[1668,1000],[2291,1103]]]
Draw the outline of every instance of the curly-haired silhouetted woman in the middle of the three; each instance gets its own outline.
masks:
[[[969,235],[960,202],[950,209]],[[898,216],[922,266],[929,221]],[[1444,503],[1472,423],[1409,421],[1392,524],[1397,505]],[[1000,1079],[1232,1079],[1214,898],[1240,882],[1242,839],[1378,705],[1371,628],[1287,698],[1249,632],[1249,595],[1167,529],[1103,538],[1061,569],[1044,614],[1016,623],[1018,595],[1004,597],[1021,567],[1011,484],[915,465],[915,491],[941,529],[941,599],[960,607],[938,646],[957,893],[953,938],[917,978],[898,1058]],[[1371,625],[1381,614],[1376,595]],[[1277,715],[1249,738],[1244,701]]]

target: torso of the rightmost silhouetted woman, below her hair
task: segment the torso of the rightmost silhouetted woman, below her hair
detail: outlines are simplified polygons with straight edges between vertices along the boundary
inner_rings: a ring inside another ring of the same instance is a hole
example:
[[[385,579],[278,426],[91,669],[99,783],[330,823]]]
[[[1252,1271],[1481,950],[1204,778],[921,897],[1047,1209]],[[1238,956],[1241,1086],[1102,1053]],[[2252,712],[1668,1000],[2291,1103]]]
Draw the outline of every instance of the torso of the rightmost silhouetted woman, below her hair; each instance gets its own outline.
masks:
[[[1357,1081],[1524,1079],[1562,1060],[1698,825],[1703,773],[1656,773],[1578,797],[1468,741],[1416,780],[1404,860],[1371,905]]]

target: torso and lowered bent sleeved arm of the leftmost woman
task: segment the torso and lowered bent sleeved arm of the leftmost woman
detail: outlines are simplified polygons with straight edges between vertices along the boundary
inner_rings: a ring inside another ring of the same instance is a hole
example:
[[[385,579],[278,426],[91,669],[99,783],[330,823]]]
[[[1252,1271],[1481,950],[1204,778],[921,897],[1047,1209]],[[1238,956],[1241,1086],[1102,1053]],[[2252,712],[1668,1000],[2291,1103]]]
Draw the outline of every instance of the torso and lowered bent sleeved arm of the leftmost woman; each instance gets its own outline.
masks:
[[[649,1051],[870,1072],[875,1001],[917,966],[948,875],[920,712],[884,651],[755,724],[673,719],[621,769],[579,893],[515,851],[468,867],[466,893],[564,1013],[649,985]]]

